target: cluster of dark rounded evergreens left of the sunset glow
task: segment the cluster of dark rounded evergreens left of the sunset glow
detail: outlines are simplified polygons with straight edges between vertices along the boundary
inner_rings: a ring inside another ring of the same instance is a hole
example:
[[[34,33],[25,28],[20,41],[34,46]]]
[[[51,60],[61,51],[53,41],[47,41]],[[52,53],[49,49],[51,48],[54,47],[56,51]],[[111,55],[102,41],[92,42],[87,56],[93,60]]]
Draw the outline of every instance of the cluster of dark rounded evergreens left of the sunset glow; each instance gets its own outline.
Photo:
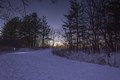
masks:
[[[0,44],[10,47],[48,47],[50,26],[46,17],[39,18],[36,13],[25,15],[22,19],[8,20],[1,30]]]

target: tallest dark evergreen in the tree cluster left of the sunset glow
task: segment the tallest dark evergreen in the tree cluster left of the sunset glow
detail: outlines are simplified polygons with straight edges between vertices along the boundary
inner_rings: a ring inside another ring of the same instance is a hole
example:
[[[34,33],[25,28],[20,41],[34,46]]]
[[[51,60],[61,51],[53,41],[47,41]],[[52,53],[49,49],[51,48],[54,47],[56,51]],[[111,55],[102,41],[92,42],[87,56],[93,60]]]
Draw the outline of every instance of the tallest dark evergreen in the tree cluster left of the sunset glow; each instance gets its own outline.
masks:
[[[36,39],[40,34],[39,29],[41,28],[40,18],[36,13],[26,15],[23,18],[21,27],[21,36],[25,47],[37,46]]]

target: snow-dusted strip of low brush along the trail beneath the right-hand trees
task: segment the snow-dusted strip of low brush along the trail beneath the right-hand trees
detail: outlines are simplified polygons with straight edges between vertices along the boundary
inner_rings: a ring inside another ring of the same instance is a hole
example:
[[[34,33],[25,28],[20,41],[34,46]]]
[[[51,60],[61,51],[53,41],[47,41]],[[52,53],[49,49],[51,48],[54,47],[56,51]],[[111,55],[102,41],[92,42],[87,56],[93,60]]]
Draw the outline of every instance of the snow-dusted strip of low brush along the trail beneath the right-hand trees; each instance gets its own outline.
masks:
[[[66,57],[72,60],[85,61],[89,63],[101,64],[101,65],[109,65],[114,67],[120,67],[120,54],[110,53],[110,57],[106,55],[105,52],[100,53],[87,53],[83,51],[69,51],[67,49],[55,49],[53,50],[53,54]]]

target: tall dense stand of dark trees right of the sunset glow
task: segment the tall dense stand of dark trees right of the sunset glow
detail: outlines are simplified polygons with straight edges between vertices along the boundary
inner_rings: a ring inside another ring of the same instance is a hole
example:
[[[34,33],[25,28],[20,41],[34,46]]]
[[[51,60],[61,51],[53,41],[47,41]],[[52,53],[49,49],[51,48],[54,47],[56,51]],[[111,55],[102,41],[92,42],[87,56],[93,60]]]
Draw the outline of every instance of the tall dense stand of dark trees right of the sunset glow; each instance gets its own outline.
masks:
[[[120,1],[70,0],[62,29],[69,49],[116,52],[120,49]]]

